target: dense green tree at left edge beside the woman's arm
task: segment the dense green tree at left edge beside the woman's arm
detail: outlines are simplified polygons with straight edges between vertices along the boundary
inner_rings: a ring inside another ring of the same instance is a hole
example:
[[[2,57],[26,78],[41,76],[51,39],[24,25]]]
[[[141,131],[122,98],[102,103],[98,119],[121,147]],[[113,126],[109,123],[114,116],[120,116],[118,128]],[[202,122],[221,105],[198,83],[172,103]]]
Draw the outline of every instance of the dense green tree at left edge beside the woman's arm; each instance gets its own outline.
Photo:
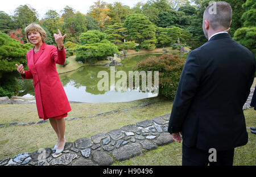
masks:
[[[26,66],[26,53],[32,44],[20,44],[18,40],[0,32],[0,96],[16,95],[19,85],[16,82],[15,64]]]

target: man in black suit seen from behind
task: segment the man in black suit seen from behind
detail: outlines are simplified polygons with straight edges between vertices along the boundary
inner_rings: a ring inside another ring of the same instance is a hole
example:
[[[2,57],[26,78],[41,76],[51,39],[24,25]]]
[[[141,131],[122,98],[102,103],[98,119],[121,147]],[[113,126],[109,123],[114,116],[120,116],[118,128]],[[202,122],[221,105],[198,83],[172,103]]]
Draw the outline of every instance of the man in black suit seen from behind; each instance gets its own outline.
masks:
[[[256,66],[253,53],[226,32],[231,20],[229,3],[207,7],[209,40],[188,54],[181,73],[168,132],[177,142],[182,134],[183,165],[233,165],[234,148],[248,141],[242,107]]]

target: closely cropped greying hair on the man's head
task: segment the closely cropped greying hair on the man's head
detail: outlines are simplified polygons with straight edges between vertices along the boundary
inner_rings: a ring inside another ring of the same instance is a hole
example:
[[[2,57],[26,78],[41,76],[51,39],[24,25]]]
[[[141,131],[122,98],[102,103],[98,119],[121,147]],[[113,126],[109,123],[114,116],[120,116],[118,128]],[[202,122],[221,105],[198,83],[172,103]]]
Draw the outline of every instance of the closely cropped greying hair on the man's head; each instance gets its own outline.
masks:
[[[205,19],[208,20],[213,29],[228,29],[232,20],[232,7],[225,1],[213,2],[204,11],[203,20]]]

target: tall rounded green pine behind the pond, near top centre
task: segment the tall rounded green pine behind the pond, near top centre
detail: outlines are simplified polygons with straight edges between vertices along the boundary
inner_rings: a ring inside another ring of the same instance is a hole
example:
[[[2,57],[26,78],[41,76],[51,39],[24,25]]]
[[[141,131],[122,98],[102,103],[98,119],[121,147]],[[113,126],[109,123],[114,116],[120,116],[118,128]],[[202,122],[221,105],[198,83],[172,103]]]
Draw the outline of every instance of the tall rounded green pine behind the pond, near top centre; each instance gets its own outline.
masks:
[[[155,49],[157,43],[155,26],[143,14],[128,15],[124,27],[127,28],[127,39],[135,41],[144,49]]]

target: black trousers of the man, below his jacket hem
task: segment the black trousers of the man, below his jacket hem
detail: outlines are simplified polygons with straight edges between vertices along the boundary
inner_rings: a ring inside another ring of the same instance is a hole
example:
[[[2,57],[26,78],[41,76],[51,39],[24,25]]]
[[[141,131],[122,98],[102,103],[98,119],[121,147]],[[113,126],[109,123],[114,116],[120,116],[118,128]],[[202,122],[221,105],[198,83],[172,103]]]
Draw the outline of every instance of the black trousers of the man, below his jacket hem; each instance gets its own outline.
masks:
[[[232,166],[234,159],[234,148],[231,150],[217,151],[216,159],[213,160],[212,157],[212,151],[209,153],[209,150],[201,150],[197,149],[196,147],[187,147],[184,144],[182,145],[183,166],[207,166],[208,164],[210,166]]]

